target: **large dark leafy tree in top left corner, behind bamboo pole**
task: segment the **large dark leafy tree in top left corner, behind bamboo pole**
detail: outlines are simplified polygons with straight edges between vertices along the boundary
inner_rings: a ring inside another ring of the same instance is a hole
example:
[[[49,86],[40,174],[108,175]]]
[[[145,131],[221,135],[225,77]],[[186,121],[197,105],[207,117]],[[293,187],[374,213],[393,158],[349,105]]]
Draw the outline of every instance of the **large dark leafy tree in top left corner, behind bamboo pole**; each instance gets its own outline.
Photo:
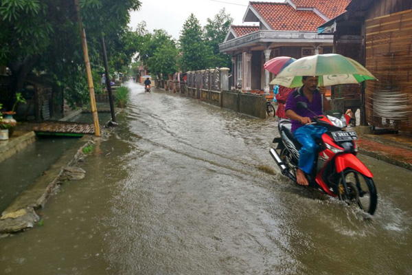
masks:
[[[80,0],[91,63],[100,63],[102,32],[122,38],[129,10],[139,6],[138,0]],[[79,80],[84,61],[74,1],[2,0],[0,17],[0,65],[12,71],[13,93],[35,68],[60,85],[77,85],[73,81]]]

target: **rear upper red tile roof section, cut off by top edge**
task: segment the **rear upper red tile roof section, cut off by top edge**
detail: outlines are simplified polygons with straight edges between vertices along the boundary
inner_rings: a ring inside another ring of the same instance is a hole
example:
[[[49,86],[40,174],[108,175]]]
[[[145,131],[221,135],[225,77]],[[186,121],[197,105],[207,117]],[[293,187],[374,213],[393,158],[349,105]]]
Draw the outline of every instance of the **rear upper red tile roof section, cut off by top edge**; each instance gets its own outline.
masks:
[[[329,19],[345,12],[351,0],[290,0],[296,8],[316,8]]]

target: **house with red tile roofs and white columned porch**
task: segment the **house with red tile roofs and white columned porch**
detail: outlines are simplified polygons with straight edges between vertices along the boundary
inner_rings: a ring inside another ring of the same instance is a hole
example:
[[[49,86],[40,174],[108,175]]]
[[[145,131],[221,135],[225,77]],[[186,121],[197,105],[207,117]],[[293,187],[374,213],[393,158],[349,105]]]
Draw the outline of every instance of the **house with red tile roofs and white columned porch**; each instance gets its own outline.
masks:
[[[332,53],[333,38],[317,34],[317,27],[345,12],[350,1],[249,2],[243,21],[259,25],[233,25],[219,45],[220,52],[232,56],[231,89],[269,91],[268,83],[274,76],[263,64],[276,56]]]

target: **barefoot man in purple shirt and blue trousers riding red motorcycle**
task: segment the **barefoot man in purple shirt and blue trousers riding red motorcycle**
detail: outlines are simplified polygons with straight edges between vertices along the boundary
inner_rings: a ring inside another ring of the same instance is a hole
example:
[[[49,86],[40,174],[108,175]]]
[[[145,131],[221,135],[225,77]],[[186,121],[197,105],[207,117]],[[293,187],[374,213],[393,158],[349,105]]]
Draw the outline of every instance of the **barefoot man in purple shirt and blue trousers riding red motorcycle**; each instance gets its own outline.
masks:
[[[320,138],[328,130],[324,126],[310,124],[314,114],[322,114],[322,109],[330,109],[328,100],[323,100],[318,85],[317,76],[302,76],[303,86],[291,92],[286,100],[286,116],[292,122],[292,133],[296,140],[302,145],[299,150],[299,164],[296,172],[296,181],[301,185],[308,185],[306,174],[310,174],[313,167],[314,157],[317,151],[315,138]],[[308,109],[298,109],[297,102],[306,102]]]

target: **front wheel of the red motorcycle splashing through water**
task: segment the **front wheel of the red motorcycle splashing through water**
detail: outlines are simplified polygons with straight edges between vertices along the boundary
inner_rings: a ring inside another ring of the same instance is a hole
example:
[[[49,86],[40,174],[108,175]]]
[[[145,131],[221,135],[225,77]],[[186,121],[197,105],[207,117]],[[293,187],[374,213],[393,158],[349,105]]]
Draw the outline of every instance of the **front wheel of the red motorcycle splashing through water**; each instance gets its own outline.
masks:
[[[349,197],[339,195],[339,198],[348,201],[357,201],[358,206],[363,211],[374,214],[376,204],[378,203],[378,194],[374,180],[353,169],[347,169],[343,173],[350,194]],[[342,179],[340,179],[339,184],[342,183],[341,181]]]

